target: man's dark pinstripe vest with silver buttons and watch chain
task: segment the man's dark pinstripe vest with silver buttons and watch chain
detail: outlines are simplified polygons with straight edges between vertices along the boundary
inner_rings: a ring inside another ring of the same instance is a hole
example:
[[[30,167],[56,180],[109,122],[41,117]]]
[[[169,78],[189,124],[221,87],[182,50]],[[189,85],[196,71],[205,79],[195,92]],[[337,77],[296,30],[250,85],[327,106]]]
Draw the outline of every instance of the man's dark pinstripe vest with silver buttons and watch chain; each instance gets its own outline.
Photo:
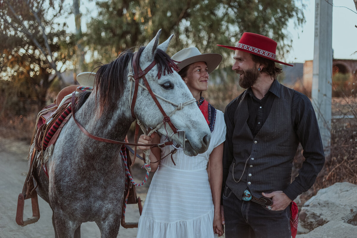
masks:
[[[259,198],[262,192],[283,190],[290,184],[292,161],[299,143],[290,116],[293,91],[280,85],[280,98],[275,97],[255,137],[247,124],[249,95],[243,95],[236,108],[232,138],[234,158],[226,184],[239,199],[246,188]]]

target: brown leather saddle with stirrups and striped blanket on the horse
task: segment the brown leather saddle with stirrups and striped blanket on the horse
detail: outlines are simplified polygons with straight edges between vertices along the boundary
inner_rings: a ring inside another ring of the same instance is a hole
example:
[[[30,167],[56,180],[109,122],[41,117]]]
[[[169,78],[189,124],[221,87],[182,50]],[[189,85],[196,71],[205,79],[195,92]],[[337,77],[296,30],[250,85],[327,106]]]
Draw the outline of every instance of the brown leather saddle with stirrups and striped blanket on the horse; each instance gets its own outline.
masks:
[[[40,218],[40,210],[38,204],[38,198],[36,193],[37,181],[33,176],[35,166],[41,164],[42,169],[44,169],[45,174],[47,174],[46,162],[49,154],[51,154],[51,149],[67,121],[71,118],[71,95],[73,91],[76,91],[78,85],[71,85],[63,88],[57,95],[54,103],[44,107],[37,115],[36,125],[34,129],[34,134],[30,143],[30,166],[29,172],[27,173],[24,187],[22,192],[19,194],[17,199],[17,209],[16,209],[16,223],[19,226],[26,226],[28,224],[35,223]],[[50,152],[49,152],[50,151]],[[122,147],[122,153],[125,154],[128,164],[131,163],[130,151],[125,146]],[[129,172],[131,169],[129,167]],[[35,184],[34,184],[35,181]],[[142,212],[142,204],[140,197],[137,197],[135,186],[130,182],[130,178],[126,175],[125,181],[125,191],[124,191],[124,202],[122,206],[122,217],[121,226],[124,228],[136,228],[138,227],[137,222],[125,222],[125,208],[126,204],[138,204],[139,213]],[[24,205],[25,200],[31,198],[32,205],[32,217],[24,220]],[[126,201],[126,202],[125,202]]]

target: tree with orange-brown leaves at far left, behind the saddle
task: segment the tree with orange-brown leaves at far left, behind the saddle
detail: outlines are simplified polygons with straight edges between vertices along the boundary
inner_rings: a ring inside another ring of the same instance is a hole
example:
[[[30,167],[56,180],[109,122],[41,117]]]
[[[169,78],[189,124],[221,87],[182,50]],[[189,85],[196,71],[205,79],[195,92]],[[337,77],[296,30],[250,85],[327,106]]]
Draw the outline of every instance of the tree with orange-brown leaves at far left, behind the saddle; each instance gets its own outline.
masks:
[[[6,87],[2,110],[12,107],[13,97],[24,102],[35,99],[39,107],[45,105],[47,89],[55,75],[71,66],[73,54],[71,37],[64,24],[56,19],[65,14],[64,0],[1,0],[0,4],[0,76],[1,87]],[[65,49],[65,50],[64,50]],[[5,82],[6,80],[7,82]],[[15,103],[16,104],[16,103]],[[13,108],[24,113],[24,108]]]

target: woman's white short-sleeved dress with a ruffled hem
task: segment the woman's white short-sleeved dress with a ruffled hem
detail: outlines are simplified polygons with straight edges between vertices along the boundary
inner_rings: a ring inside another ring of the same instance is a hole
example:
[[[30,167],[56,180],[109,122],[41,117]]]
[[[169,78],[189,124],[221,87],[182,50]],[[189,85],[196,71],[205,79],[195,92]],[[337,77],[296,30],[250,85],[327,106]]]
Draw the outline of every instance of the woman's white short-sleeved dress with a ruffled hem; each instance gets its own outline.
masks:
[[[217,237],[213,233],[214,207],[206,168],[210,153],[225,137],[224,116],[217,110],[205,153],[190,157],[179,150],[174,155],[176,166],[170,156],[160,162],[145,199],[137,238]],[[172,149],[166,146],[161,156]]]

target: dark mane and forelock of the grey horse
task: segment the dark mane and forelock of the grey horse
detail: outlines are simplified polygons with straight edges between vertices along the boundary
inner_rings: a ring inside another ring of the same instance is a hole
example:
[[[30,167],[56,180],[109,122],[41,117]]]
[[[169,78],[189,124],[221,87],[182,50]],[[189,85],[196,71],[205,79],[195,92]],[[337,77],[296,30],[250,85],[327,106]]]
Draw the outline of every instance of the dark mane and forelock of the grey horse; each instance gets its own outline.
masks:
[[[138,50],[140,56],[145,46]],[[108,64],[98,66],[98,71],[95,76],[96,94],[99,93],[100,111],[105,108],[115,105],[120,100],[123,90],[124,82],[127,81],[127,69],[129,62],[134,57],[134,52],[130,49],[120,53],[120,55],[109,62]],[[171,57],[161,49],[156,49],[154,59],[158,67],[157,77],[160,79],[162,71],[164,75],[171,74],[174,70],[177,71],[177,66]],[[139,57],[136,58],[136,65],[139,65]]]

